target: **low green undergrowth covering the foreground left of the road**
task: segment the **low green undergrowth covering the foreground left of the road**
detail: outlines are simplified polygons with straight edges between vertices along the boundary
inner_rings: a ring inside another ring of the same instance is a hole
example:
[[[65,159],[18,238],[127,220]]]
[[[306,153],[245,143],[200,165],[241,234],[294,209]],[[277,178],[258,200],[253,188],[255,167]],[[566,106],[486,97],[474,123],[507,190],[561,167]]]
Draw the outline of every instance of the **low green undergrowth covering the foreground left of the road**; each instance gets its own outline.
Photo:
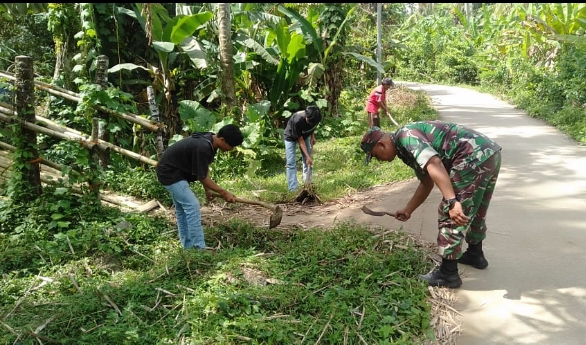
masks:
[[[83,232],[35,239],[38,249],[3,251],[0,262],[9,254],[13,267],[0,312],[12,332],[1,341],[32,341],[27,330],[39,323],[44,339],[63,344],[339,343],[346,329],[357,342],[426,339],[423,253],[402,232],[377,237],[345,223],[287,233],[232,221],[209,229],[209,241],[224,245],[210,253],[170,246],[161,225],[88,221]],[[388,241],[406,245],[390,252]],[[33,261],[31,270],[19,259]]]

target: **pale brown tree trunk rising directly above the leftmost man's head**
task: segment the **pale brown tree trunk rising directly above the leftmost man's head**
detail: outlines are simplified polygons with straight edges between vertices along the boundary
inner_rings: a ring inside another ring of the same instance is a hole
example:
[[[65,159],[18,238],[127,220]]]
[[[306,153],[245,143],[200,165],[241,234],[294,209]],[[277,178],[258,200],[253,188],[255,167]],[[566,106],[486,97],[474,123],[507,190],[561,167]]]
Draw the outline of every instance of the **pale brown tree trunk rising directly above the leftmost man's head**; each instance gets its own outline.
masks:
[[[218,30],[220,41],[220,64],[222,66],[222,92],[228,110],[236,105],[234,90],[234,65],[232,62],[232,38],[230,27],[230,4],[218,4]]]

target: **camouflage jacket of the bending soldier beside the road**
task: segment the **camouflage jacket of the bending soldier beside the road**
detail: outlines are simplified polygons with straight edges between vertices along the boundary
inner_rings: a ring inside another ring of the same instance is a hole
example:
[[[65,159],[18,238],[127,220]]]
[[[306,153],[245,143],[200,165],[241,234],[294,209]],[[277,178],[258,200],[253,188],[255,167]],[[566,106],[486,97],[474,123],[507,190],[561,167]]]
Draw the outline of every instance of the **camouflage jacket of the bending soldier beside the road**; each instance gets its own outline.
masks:
[[[413,122],[391,133],[391,137],[397,156],[415,170],[418,179],[427,175],[425,165],[435,155],[452,176],[452,170],[473,170],[501,150],[486,135],[443,121]]]

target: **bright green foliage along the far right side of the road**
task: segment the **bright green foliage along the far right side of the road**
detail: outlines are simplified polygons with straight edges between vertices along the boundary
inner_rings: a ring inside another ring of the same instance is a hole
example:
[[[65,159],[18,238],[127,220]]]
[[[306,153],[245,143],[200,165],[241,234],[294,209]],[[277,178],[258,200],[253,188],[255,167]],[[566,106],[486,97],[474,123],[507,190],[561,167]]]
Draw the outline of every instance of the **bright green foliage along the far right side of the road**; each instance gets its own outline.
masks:
[[[451,9],[446,11],[447,9]],[[444,4],[401,27],[412,81],[480,85],[584,142],[584,4]]]

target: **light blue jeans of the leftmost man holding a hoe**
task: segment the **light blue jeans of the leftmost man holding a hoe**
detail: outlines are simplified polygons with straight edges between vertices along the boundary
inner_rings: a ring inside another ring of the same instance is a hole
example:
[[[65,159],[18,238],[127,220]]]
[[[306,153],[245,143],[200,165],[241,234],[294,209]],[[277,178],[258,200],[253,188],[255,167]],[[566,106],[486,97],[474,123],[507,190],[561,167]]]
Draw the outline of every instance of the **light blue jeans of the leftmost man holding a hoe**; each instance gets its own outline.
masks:
[[[164,187],[173,198],[181,245],[183,248],[205,249],[199,201],[189,188],[189,183],[182,180]]]

